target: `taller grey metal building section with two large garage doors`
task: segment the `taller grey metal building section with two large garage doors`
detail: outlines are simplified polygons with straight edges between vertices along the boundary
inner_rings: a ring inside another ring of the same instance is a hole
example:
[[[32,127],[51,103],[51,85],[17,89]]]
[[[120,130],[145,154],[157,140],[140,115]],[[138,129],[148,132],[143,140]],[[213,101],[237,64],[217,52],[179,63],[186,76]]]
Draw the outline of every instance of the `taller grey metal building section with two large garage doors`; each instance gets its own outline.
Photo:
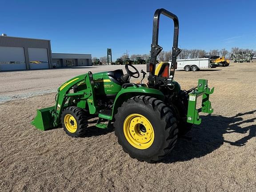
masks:
[[[0,71],[51,68],[50,40],[0,36]]]

